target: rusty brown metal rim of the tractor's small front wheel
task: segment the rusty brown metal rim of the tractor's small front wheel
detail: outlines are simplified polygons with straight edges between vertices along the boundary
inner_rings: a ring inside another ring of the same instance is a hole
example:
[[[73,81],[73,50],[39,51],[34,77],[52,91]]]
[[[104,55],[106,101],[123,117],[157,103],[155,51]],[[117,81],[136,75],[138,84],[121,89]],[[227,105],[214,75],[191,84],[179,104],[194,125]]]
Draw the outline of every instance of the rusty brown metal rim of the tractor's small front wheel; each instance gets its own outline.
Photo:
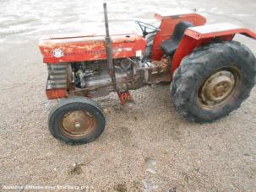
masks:
[[[60,130],[63,135],[75,139],[89,135],[95,126],[95,117],[83,110],[70,111],[60,121]]]

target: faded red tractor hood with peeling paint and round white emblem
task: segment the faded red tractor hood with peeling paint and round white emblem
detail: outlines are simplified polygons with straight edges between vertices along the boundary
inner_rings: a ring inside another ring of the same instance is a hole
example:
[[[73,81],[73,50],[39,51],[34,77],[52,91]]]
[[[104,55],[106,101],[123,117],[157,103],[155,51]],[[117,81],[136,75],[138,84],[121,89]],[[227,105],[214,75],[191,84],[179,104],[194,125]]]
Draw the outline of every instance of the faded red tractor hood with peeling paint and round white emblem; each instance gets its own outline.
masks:
[[[140,35],[112,35],[112,57],[140,56],[146,40]],[[41,37],[39,47],[45,63],[106,60],[104,35],[52,35]]]

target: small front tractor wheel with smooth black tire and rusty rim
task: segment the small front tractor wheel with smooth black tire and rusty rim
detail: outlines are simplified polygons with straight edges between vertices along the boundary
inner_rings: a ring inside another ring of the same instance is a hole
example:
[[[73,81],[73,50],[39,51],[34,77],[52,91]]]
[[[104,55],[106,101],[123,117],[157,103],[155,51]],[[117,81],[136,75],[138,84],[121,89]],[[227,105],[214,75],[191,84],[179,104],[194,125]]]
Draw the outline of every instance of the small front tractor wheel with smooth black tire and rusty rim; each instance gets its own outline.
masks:
[[[61,100],[48,118],[52,136],[70,145],[94,141],[104,131],[105,123],[98,104],[84,97]]]

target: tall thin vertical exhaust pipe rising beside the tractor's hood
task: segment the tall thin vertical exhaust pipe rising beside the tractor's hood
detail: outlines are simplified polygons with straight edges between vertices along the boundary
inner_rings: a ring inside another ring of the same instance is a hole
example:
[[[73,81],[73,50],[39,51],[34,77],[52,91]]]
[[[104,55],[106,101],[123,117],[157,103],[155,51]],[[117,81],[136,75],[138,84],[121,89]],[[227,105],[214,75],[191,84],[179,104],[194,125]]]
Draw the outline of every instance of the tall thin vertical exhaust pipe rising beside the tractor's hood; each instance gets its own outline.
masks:
[[[104,8],[105,29],[106,29],[105,41],[106,41],[106,58],[107,58],[108,73],[110,77],[112,77],[112,83],[116,83],[115,67],[112,60],[112,40],[109,35],[106,3],[103,3],[103,8]]]

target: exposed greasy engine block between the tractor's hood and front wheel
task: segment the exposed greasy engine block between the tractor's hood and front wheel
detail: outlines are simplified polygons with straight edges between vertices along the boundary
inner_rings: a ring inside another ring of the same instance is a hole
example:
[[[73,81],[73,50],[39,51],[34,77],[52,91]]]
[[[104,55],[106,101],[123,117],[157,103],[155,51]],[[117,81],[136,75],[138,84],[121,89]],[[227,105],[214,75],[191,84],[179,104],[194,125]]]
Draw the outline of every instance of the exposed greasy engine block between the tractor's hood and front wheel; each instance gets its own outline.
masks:
[[[144,85],[169,81],[168,61],[141,61],[139,57],[113,59],[115,83],[109,74],[106,60],[71,63],[71,84],[74,93],[91,98],[112,91],[126,92]]]

